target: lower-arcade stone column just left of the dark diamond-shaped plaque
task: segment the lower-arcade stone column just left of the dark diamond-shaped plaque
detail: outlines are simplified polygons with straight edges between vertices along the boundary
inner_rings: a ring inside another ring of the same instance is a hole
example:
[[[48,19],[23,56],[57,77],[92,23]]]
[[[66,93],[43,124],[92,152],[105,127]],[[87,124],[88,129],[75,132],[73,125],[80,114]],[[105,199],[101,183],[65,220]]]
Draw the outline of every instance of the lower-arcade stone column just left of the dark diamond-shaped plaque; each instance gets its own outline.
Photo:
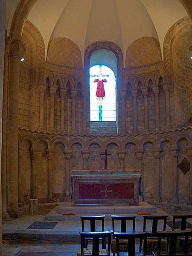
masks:
[[[178,170],[177,170],[177,148],[171,148],[170,154],[173,160],[173,201],[174,203],[178,202]]]

